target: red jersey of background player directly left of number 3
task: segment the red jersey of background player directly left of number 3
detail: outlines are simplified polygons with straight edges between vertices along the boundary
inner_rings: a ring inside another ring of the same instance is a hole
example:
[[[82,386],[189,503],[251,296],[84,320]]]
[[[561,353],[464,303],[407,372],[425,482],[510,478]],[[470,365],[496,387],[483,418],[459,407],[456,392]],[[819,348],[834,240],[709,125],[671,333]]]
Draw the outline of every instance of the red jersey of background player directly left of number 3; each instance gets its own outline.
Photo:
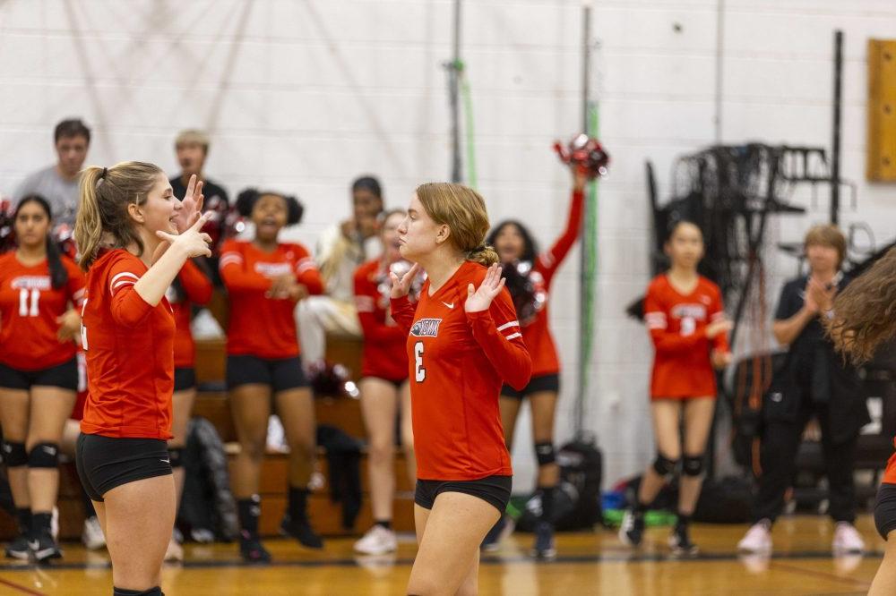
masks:
[[[389,294],[379,287],[384,279],[388,280],[388,275],[379,260],[368,261],[355,271],[355,303],[364,331],[361,376],[403,381],[408,378],[408,334],[389,313]],[[388,285],[392,287],[391,282]]]

